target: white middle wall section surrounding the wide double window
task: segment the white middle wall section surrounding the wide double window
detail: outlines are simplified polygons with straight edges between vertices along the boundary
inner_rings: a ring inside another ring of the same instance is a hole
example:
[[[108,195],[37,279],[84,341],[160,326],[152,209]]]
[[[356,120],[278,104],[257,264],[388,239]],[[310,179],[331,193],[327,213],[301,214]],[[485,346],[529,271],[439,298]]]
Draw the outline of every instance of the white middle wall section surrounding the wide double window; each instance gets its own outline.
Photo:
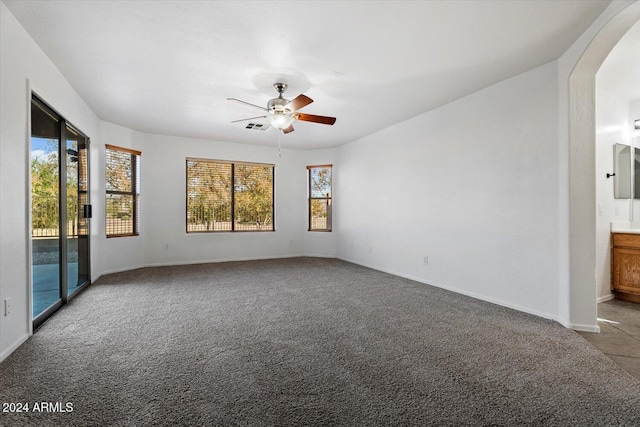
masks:
[[[306,153],[273,147],[145,135],[144,264],[187,264],[305,254]],[[275,232],[185,232],[185,158],[275,164]],[[169,245],[165,250],[165,245]]]

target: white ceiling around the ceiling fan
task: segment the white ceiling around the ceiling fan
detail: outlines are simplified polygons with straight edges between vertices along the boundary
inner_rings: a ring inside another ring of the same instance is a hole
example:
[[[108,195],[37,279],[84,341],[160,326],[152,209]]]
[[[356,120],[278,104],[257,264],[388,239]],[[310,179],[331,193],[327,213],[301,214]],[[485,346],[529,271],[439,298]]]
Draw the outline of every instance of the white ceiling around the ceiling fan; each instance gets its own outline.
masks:
[[[132,129],[277,144],[235,119],[275,82],[302,112],[282,145],[340,145],[558,58],[603,0],[2,0],[102,119]]]

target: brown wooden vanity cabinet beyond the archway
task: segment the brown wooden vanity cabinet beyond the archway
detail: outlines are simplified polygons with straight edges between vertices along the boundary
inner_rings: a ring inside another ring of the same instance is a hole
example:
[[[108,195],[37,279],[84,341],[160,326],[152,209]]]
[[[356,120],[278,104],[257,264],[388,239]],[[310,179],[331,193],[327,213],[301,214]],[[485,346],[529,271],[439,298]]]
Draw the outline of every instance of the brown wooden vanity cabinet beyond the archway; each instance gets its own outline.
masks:
[[[611,292],[640,302],[640,234],[612,233],[611,241]]]

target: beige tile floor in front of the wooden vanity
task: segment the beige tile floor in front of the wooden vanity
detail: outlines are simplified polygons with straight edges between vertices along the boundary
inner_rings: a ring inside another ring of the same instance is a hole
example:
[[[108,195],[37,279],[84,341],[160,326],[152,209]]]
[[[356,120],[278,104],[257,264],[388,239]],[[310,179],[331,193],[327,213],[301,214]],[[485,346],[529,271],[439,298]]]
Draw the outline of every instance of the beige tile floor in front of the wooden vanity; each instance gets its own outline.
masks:
[[[640,304],[615,299],[600,303],[598,325],[599,334],[579,334],[640,380]]]

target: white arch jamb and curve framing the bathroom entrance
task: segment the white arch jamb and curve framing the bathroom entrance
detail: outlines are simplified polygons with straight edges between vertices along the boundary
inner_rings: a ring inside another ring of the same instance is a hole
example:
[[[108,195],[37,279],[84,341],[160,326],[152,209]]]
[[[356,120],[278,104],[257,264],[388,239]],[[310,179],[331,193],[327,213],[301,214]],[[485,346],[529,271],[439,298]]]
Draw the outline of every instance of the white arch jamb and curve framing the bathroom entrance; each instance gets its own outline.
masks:
[[[569,75],[569,287],[564,314],[569,326],[576,329],[597,329],[596,73],[613,47],[638,21],[640,2],[635,2],[602,26]]]

